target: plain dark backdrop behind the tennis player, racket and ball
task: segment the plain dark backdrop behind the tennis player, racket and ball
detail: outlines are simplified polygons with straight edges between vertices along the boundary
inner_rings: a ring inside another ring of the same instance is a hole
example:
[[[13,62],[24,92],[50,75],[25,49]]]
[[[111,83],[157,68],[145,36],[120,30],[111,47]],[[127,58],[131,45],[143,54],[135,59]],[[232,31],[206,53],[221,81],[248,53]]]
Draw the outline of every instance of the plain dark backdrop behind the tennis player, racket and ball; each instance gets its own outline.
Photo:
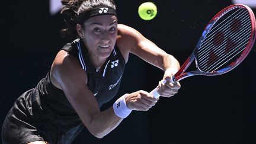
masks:
[[[120,1],[119,23],[140,31],[180,63],[200,38],[204,26],[221,9],[235,3],[256,1]],[[137,8],[154,2],[158,14],[151,21],[139,18]],[[4,4],[3,4],[4,3]],[[49,71],[58,50],[71,40],[62,39],[65,27],[60,0],[2,2],[1,117],[4,121],[15,99],[36,86]],[[233,71],[220,76],[193,76],[181,81],[174,97],[160,98],[149,111],[133,111],[103,139],[86,129],[73,143],[256,143],[256,49]],[[163,72],[131,55],[117,97],[140,89],[151,91]]]

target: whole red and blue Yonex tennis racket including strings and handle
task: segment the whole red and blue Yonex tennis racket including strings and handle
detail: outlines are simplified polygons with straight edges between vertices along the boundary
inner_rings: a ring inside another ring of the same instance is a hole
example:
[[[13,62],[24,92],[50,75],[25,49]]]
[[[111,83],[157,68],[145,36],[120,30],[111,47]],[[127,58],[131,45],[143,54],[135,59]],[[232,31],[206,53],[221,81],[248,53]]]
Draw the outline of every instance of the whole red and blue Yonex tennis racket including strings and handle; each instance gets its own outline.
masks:
[[[170,82],[175,83],[194,75],[215,76],[229,72],[247,57],[254,41],[253,11],[247,5],[230,5],[206,25],[193,53]],[[193,61],[196,71],[185,72]],[[155,98],[160,96],[156,88],[151,94]]]

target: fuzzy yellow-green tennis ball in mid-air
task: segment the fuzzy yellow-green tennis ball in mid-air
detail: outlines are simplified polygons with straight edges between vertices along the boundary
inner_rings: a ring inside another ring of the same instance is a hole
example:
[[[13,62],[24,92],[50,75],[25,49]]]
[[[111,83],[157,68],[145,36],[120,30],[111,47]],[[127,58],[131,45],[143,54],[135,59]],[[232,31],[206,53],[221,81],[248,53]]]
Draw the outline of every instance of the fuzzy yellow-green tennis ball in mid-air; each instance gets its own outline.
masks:
[[[157,8],[153,2],[144,2],[139,6],[138,12],[143,20],[152,20],[157,14]]]

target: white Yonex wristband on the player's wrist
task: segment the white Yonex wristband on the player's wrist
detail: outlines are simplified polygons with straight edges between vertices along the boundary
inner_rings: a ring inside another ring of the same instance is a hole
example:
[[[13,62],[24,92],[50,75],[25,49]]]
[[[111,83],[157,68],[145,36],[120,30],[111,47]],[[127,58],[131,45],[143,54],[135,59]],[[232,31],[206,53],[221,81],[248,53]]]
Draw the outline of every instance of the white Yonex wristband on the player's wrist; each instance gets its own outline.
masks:
[[[114,104],[113,104],[113,109],[114,109],[114,113],[119,116],[120,118],[124,119],[127,116],[129,116],[129,114],[132,112],[132,109],[128,108],[126,105],[126,101],[124,99],[124,97],[127,94],[121,96]]]

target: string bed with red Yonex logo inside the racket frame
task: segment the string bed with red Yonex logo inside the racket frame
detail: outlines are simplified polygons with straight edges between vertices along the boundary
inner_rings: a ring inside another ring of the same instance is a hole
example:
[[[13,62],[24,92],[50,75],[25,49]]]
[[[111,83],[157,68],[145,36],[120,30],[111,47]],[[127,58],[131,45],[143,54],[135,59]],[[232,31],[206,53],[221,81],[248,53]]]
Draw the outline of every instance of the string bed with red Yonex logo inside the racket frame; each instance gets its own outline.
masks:
[[[247,46],[251,37],[250,31],[250,17],[244,9],[238,9],[226,15],[226,18],[220,18],[198,49],[197,63],[200,70],[213,72],[235,62]]]

